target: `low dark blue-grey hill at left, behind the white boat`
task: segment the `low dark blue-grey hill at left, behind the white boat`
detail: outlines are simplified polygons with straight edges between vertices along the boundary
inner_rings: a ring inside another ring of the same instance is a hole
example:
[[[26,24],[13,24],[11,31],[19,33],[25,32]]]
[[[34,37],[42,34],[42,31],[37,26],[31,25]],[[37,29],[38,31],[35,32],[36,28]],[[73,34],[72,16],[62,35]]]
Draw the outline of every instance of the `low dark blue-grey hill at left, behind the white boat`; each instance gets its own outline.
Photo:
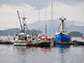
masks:
[[[20,33],[20,29],[19,28],[12,28],[12,29],[6,29],[6,30],[0,30],[0,36],[14,36],[15,33]],[[29,34],[32,34],[32,32],[37,33],[38,30],[29,30]],[[25,33],[28,34],[27,30],[25,31]],[[41,33],[41,31],[39,31],[39,33]]]

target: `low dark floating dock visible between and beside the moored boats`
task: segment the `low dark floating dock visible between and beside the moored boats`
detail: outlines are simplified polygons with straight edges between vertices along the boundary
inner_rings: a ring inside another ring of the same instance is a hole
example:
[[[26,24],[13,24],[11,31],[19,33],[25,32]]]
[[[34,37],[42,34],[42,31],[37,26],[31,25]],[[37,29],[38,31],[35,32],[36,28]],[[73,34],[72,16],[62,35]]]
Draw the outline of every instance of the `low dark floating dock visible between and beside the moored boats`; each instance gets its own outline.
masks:
[[[0,44],[13,44],[11,41],[0,41]],[[82,41],[57,42],[55,45],[84,45]],[[39,46],[39,42],[29,43],[28,46]]]

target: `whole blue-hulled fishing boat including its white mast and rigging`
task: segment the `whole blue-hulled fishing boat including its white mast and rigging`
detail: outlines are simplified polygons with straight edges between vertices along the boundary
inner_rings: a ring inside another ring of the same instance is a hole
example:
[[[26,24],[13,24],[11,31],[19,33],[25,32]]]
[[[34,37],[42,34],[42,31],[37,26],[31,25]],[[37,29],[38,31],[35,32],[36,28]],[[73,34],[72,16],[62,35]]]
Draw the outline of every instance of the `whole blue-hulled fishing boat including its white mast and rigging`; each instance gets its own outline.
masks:
[[[67,33],[67,29],[64,23],[64,20],[66,20],[66,18],[63,18],[62,16],[60,20],[61,23],[56,31],[54,38],[57,40],[57,42],[71,42],[71,37],[69,33]]]

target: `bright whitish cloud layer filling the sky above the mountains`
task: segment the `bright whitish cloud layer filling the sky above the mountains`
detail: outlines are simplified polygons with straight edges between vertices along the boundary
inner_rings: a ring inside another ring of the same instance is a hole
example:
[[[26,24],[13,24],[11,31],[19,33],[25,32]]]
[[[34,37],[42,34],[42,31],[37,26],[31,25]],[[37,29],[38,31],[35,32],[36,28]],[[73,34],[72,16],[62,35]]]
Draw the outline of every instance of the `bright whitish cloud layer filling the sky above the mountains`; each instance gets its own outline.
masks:
[[[9,1],[9,0],[8,0]],[[38,1],[38,0],[37,0]],[[41,0],[40,0],[41,1]],[[44,1],[44,0],[43,0]],[[47,1],[47,0],[45,0]],[[72,1],[72,0],[71,0]],[[18,2],[18,1],[17,1]],[[31,2],[31,1],[30,1]],[[35,3],[35,2],[33,2]],[[43,2],[42,2],[43,3]],[[39,3],[41,4],[41,3]],[[43,5],[43,4],[42,4]],[[40,7],[40,5],[38,5]],[[53,3],[53,20],[61,15],[67,18],[68,21],[75,21],[77,25],[84,25],[84,2],[76,5],[67,5],[60,2]],[[44,7],[44,8],[43,8]],[[41,7],[40,7],[41,8]],[[39,9],[36,6],[23,3],[23,5],[1,4],[0,6],[0,28],[15,28],[19,27],[17,10],[20,10],[20,16],[27,16],[27,23],[38,21]],[[51,4],[45,5],[40,9],[40,20],[45,20],[45,11],[47,11],[47,20],[51,19]],[[30,18],[30,19],[28,19]],[[72,23],[71,23],[72,24]]]

